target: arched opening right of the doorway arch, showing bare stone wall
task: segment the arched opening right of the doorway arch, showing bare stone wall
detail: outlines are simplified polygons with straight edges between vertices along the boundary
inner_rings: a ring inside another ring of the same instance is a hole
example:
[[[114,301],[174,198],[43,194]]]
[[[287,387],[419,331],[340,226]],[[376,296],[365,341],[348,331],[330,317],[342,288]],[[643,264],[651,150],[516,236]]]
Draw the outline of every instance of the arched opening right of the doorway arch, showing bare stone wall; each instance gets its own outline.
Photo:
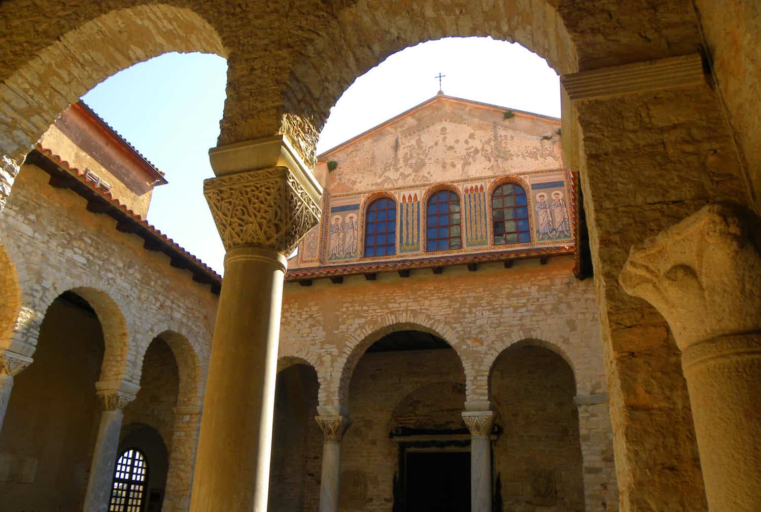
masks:
[[[547,348],[512,345],[492,366],[490,389],[501,428],[493,445],[497,510],[587,510],[568,363]]]

